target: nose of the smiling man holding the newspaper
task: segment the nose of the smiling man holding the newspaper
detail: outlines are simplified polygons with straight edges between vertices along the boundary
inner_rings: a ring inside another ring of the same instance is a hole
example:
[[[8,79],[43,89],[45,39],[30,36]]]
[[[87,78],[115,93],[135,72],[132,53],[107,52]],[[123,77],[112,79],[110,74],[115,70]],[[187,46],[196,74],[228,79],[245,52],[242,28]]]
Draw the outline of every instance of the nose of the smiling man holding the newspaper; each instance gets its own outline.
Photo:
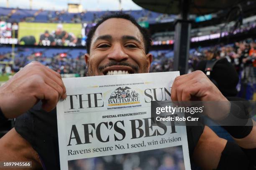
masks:
[[[121,45],[115,45],[112,51],[108,54],[108,59],[120,62],[127,60],[128,55],[125,53]]]

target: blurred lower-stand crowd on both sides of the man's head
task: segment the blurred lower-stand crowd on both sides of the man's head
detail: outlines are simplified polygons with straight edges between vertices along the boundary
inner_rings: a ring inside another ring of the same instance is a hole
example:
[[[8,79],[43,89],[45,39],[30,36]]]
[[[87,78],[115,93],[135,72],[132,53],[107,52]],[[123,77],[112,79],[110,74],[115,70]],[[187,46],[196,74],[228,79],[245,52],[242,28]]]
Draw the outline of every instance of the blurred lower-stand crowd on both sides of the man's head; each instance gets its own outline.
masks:
[[[0,62],[12,60],[11,47],[0,47],[0,51]],[[256,41],[248,39],[230,45],[190,49],[188,72],[197,70],[197,64],[201,60],[207,59],[206,53],[209,51],[214,53],[215,58],[225,57],[234,65],[238,75],[240,75],[240,83],[251,84],[254,89],[256,88],[254,87],[256,86]],[[173,70],[173,50],[153,50],[150,52],[154,56],[150,72]],[[15,50],[15,60],[11,69],[13,72],[18,72],[29,62],[36,60],[61,74],[75,74],[77,77],[86,76],[85,53],[86,50],[84,49],[19,47]],[[0,65],[0,74],[6,72],[6,66]]]

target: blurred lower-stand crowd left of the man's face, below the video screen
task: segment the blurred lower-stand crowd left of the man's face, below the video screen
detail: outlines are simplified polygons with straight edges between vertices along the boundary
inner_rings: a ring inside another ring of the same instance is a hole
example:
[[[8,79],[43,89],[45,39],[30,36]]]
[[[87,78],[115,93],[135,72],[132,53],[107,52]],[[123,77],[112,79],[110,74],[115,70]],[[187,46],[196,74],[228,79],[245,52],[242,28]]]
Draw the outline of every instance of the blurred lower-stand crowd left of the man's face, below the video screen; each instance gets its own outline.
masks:
[[[10,47],[0,47],[0,61],[12,60]],[[46,49],[46,48],[18,48],[15,50],[13,72],[18,72],[31,61],[39,61],[60,74],[77,74],[85,76],[86,64],[84,54],[86,50],[78,49]],[[0,73],[5,72],[5,65],[0,65]]]

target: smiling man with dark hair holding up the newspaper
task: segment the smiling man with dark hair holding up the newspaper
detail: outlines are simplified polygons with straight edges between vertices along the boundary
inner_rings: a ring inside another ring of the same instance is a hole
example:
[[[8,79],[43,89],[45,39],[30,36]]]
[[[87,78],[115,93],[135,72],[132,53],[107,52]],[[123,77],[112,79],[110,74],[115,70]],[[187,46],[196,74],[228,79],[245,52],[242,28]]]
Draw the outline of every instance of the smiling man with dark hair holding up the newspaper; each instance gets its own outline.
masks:
[[[88,35],[85,55],[88,75],[149,72],[150,43],[146,30],[130,15],[118,13],[103,18]],[[59,99],[66,97],[60,75],[33,62],[1,87],[0,95],[4,116],[20,115],[15,128],[0,139],[0,160],[27,160],[32,161],[35,169],[59,169],[55,107]],[[200,71],[177,77],[171,97],[173,101],[228,101]],[[224,110],[225,114],[218,119],[228,116],[230,108]],[[240,134],[237,135],[238,128],[231,134],[237,145],[219,138],[206,126],[187,127],[190,159],[203,169],[221,169],[226,165],[232,169],[247,169],[249,160],[243,149],[256,147],[256,130],[252,126],[240,129]]]

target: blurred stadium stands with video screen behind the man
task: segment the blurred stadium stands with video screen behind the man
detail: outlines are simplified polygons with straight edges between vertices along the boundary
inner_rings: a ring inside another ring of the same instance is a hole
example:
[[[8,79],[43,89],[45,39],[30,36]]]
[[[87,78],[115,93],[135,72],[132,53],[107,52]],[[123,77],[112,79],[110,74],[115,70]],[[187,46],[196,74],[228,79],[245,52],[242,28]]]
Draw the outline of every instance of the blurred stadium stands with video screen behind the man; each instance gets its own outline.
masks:
[[[189,15],[192,21],[189,69],[194,71],[205,50],[216,49],[221,57],[228,57],[240,74],[241,95],[253,99],[255,82],[244,82],[241,76],[246,63],[241,65],[238,49],[256,48],[256,2],[246,1],[227,10],[208,15]],[[105,15],[117,11],[82,11],[68,13],[64,10],[31,10],[0,7],[0,82],[36,60],[63,77],[86,76],[84,62],[87,33]],[[126,10],[151,34],[151,53],[154,61],[151,72],[172,71],[174,57],[174,24],[177,15],[155,13],[149,10]],[[252,54],[252,53],[251,53]],[[250,55],[251,55],[250,54]],[[255,58],[255,57],[254,57]],[[256,75],[255,60],[248,65]],[[241,68],[243,67],[243,68]]]

